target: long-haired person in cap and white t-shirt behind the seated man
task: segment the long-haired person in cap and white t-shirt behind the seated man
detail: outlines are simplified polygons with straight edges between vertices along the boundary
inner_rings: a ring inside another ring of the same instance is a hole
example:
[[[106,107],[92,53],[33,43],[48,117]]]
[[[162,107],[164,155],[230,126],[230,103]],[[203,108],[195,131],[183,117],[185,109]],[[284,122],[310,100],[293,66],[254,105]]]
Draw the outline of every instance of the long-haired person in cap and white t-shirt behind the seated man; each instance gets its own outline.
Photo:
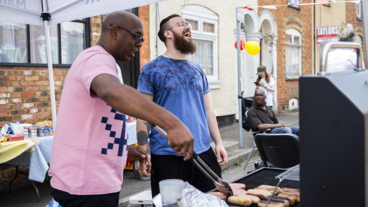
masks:
[[[266,71],[266,67],[261,65],[257,68],[258,78],[256,80],[256,88],[261,88],[264,90],[266,95],[266,106],[272,108],[273,106],[273,92],[276,90],[276,82],[269,73]]]

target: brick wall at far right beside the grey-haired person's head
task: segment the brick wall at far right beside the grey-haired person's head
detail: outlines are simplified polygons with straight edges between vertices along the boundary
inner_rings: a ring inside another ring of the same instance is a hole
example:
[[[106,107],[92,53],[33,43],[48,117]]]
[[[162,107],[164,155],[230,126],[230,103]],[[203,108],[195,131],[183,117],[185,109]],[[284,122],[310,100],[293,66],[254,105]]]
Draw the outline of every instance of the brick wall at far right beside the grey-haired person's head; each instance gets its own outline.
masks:
[[[366,46],[364,42],[364,25],[363,21],[357,19],[357,4],[356,3],[346,3],[346,24],[352,24],[355,31],[355,36],[359,35],[362,37],[362,47],[364,54],[364,61],[367,67],[366,59]]]

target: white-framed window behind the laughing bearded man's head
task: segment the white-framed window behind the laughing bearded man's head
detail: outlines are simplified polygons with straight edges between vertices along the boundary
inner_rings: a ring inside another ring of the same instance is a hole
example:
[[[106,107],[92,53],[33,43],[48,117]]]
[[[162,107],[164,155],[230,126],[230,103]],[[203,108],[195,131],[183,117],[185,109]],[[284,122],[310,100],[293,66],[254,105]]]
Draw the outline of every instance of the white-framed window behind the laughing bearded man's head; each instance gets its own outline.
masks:
[[[192,40],[197,46],[197,52],[189,55],[188,59],[202,67],[209,82],[217,81],[217,15],[198,5],[187,5],[183,8],[182,13],[183,18],[193,26]]]

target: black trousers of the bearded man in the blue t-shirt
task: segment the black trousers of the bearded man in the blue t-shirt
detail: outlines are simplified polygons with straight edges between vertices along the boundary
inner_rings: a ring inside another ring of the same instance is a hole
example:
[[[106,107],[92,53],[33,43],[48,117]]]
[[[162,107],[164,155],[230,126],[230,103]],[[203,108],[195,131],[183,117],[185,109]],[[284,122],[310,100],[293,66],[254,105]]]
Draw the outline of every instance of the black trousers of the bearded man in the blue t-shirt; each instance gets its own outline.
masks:
[[[199,154],[199,157],[221,177],[221,167],[212,148]],[[184,161],[184,156],[154,155],[151,153],[151,190],[152,197],[159,193],[158,182],[165,179],[181,179],[188,181],[191,185],[202,192],[214,189],[212,181],[208,179],[191,161]]]

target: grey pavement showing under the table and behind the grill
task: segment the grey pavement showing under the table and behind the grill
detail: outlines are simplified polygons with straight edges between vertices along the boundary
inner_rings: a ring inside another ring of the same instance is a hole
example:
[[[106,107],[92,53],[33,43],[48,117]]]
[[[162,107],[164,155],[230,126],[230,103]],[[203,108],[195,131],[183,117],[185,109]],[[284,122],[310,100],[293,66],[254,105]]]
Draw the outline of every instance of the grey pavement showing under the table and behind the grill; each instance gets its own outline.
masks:
[[[298,126],[299,113],[289,112],[277,114],[279,122],[282,124],[290,124]],[[224,146],[229,154],[229,163],[222,167],[222,176],[225,181],[234,181],[244,175],[247,171],[253,170],[253,164],[249,164],[246,171],[243,171],[244,160],[249,155],[254,139],[250,132],[243,131],[243,148],[239,149],[239,130],[238,123],[220,128],[221,138]],[[213,143],[211,144],[212,146]],[[255,155],[251,161],[259,159]],[[235,165],[235,162],[239,165]],[[12,193],[7,192],[6,183],[0,183],[0,207],[45,207],[51,200],[50,196],[50,180],[44,183],[36,182],[40,191],[40,202],[36,203],[35,191],[29,181],[15,181],[12,187]],[[150,181],[140,181],[134,178],[133,172],[124,171],[124,182],[120,192],[120,207],[128,206],[128,199],[134,194],[150,189]]]

